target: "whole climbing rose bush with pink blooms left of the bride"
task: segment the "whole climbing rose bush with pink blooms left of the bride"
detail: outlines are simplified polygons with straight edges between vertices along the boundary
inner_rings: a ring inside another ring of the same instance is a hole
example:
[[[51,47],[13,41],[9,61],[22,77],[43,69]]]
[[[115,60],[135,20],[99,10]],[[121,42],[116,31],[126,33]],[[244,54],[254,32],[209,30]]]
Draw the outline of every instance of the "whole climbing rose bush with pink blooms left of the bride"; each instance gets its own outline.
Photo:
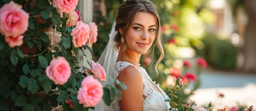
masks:
[[[88,111],[110,105],[121,82],[104,83],[93,61],[79,66],[97,41],[97,25],[81,21],[78,0],[0,1],[0,111]]]

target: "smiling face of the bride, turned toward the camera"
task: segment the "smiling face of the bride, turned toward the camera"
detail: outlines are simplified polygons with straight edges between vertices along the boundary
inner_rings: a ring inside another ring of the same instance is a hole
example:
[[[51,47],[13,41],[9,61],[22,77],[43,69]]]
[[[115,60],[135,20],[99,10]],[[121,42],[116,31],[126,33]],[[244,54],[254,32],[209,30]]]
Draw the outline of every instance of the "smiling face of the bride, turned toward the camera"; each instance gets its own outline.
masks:
[[[125,33],[127,49],[145,54],[156,37],[155,16],[147,12],[138,12],[131,27]]]

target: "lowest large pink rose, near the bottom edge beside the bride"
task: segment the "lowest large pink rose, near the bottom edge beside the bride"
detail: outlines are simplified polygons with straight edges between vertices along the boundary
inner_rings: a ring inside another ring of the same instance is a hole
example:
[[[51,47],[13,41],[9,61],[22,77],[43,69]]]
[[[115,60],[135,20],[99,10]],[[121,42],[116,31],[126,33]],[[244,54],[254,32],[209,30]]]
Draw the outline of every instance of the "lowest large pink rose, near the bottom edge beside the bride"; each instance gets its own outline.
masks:
[[[83,104],[83,107],[92,107],[99,103],[102,97],[103,89],[101,83],[94,79],[93,76],[85,77],[77,92],[79,104]]]

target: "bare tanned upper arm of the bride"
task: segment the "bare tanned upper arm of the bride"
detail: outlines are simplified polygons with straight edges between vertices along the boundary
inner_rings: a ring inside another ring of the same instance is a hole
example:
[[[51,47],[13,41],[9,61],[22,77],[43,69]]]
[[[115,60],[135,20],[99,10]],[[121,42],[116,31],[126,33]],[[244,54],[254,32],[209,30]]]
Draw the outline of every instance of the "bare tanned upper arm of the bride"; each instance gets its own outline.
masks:
[[[143,111],[143,81],[138,69],[128,66],[119,73],[117,79],[128,87],[125,91],[121,89],[120,110]]]

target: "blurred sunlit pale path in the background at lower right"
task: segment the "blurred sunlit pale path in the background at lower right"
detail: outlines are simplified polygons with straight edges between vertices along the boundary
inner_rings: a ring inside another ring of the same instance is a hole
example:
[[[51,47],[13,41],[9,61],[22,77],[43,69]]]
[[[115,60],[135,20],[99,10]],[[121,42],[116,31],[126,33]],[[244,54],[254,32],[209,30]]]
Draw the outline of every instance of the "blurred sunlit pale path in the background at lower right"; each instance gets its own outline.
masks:
[[[215,110],[226,106],[234,107],[237,104],[256,106],[256,74],[208,68],[202,71],[200,78],[201,88],[190,98],[197,104],[205,105],[212,101]],[[224,97],[221,98],[219,94],[223,94]]]

